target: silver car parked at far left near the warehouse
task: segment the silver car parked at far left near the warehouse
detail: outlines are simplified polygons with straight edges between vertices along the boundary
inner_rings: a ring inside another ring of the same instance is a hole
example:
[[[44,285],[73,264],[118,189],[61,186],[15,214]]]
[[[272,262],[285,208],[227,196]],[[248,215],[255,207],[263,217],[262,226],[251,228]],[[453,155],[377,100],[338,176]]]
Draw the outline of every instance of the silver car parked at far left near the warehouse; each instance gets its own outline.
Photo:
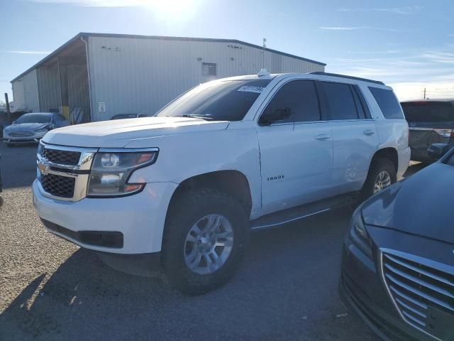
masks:
[[[13,124],[3,130],[6,144],[38,142],[50,130],[68,126],[70,122],[60,114],[51,112],[32,112],[23,114]]]

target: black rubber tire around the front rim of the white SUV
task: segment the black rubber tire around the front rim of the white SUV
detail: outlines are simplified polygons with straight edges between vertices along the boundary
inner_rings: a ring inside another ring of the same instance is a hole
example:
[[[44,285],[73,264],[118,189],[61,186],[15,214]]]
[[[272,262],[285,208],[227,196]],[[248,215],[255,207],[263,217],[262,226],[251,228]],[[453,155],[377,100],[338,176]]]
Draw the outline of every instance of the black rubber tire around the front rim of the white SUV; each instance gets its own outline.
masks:
[[[202,217],[223,215],[233,229],[233,247],[220,269],[196,274],[184,261],[184,245],[191,227]],[[165,223],[162,266],[170,284],[189,295],[199,295],[223,286],[236,273],[249,244],[249,219],[231,195],[209,188],[188,190],[172,202]]]

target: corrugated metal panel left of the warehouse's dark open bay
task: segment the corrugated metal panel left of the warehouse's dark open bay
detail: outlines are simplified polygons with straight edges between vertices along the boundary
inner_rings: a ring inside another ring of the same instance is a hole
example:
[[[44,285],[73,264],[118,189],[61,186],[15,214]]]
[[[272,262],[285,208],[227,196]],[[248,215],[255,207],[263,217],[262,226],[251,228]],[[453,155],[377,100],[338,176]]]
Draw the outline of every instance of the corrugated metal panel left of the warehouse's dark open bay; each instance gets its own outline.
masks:
[[[51,109],[60,109],[60,80],[57,63],[49,67],[38,67],[37,70],[41,111],[48,112]]]

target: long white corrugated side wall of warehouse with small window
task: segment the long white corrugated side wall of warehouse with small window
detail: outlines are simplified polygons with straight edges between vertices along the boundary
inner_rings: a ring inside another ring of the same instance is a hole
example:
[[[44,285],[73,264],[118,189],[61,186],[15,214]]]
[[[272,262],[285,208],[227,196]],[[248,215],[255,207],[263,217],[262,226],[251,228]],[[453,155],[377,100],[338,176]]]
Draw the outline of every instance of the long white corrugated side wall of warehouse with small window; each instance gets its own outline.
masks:
[[[199,60],[201,58],[201,60]],[[216,77],[202,75],[216,63]],[[236,43],[89,37],[92,120],[114,114],[154,114],[178,94],[214,78],[257,73],[262,50]],[[272,73],[323,71],[323,65],[265,52]],[[99,112],[99,102],[106,112]]]

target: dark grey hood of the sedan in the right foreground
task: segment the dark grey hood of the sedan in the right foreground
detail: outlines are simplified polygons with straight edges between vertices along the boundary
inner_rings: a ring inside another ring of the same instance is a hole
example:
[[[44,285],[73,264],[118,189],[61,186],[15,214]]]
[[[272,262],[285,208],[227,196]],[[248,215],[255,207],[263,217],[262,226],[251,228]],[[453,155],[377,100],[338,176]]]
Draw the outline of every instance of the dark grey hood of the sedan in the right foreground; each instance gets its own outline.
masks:
[[[454,166],[437,162],[371,197],[366,224],[389,227],[454,244]]]

